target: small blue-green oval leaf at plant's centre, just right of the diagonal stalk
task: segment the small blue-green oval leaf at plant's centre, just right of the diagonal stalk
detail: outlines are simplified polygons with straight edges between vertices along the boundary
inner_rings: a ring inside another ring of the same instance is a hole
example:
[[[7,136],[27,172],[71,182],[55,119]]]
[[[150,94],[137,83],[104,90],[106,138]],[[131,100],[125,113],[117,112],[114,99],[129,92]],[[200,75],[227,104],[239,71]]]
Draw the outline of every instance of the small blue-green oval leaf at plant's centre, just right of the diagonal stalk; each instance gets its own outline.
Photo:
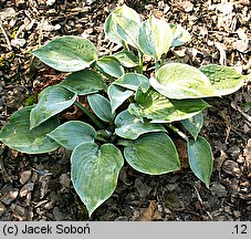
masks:
[[[87,95],[88,104],[98,118],[111,122],[114,117],[109,101],[100,94]]]

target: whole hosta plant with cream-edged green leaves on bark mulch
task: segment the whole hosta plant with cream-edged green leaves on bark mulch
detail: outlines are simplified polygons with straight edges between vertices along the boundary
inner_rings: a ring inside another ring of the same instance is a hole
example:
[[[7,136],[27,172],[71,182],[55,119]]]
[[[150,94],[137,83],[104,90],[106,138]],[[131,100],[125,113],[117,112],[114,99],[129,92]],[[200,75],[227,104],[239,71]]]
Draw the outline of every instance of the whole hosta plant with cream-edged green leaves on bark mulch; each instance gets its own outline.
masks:
[[[80,37],[56,38],[32,52],[70,74],[45,87],[36,105],[15,112],[0,141],[27,154],[72,150],[71,179],[90,216],[115,190],[125,162],[148,175],[179,170],[172,135],[186,141],[189,166],[209,187],[213,157],[199,136],[202,112],[210,107],[206,100],[236,92],[243,76],[227,66],[168,61],[167,52],[190,34],[155,17],[142,21],[127,6],[108,15],[104,31],[121,45],[118,52],[101,56]],[[154,72],[144,65],[145,55],[155,62]],[[61,122],[60,114],[73,105],[86,116]]]

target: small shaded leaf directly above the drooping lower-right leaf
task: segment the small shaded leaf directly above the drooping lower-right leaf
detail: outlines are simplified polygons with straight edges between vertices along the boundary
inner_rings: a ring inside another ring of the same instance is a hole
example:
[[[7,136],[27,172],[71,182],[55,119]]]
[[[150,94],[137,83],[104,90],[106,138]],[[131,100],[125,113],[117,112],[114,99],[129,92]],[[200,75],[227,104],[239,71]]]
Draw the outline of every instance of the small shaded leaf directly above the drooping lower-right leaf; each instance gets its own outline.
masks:
[[[194,139],[196,141],[201,127],[203,126],[203,113],[189,117],[187,119],[180,121],[181,125],[191,134]]]

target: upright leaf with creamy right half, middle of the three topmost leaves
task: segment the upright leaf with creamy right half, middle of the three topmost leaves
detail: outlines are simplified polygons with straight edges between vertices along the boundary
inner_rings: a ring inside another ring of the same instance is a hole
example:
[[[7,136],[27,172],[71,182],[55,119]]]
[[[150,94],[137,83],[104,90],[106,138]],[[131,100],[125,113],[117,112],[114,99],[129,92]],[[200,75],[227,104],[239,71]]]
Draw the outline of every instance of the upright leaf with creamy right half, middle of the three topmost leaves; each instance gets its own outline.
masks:
[[[143,53],[157,60],[167,53],[172,40],[172,32],[167,22],[151,17],[139,29],[138,44]]]

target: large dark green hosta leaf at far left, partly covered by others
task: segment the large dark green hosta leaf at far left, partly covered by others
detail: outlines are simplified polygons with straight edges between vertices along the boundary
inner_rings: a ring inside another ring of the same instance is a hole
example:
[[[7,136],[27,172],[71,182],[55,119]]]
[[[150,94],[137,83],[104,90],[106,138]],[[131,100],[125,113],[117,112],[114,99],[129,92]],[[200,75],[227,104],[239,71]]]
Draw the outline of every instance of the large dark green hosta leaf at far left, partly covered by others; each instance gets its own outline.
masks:
[[[51,117],[46,122],[30,131],[30,112],[33,106],[28,106],[15,112],[10,122],[0,132],[0,141],[9,147],[27,153],[42,154],[53,152],[60,145],[46,136],[59,126],[59,118]]]

